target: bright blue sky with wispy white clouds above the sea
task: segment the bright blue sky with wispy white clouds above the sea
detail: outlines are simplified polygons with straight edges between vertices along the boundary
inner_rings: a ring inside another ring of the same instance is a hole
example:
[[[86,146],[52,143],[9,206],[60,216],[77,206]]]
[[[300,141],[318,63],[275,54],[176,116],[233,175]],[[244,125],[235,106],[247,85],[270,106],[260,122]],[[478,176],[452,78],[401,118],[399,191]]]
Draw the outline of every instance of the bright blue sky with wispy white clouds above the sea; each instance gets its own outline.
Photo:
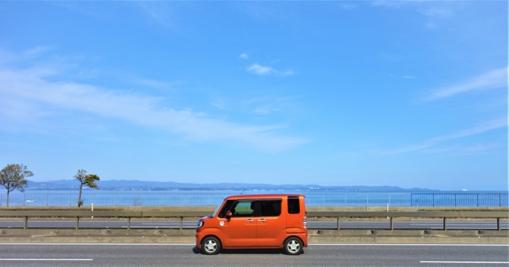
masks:
[[[507,1],[1,1],[33,181],[508,189]]]

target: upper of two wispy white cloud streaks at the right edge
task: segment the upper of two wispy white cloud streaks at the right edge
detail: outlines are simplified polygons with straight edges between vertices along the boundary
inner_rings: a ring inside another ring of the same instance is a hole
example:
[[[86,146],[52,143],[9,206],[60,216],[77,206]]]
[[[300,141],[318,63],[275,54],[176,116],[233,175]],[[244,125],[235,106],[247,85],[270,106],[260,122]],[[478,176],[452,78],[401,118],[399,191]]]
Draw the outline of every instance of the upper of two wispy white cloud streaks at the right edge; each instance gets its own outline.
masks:
[[[447,86],[437,89],[431,93],[426,100],[437,100],[444,97],[450,97],[458,93],[465,93],[468,91],[477,91],[484,89],[496,89],[508,86],[508,68],[494,69],[488,73],[475,76],[464,82],[460,82],[453,86]]]

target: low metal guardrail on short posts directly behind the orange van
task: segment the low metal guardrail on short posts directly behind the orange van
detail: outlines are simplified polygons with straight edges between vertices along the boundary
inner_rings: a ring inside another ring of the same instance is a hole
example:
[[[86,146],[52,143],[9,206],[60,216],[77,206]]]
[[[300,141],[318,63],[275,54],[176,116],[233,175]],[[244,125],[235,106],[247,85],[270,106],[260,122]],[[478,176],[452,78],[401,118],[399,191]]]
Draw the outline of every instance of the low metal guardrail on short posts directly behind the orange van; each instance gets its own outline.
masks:
[[[173,217],[182,221],[184,217],[210,216],[211,211],[0,211],[0,217],[24,217],[24,229],[28,229],[29,217],[76,217],[76,229],[79,229],[80,217],[127,218],[127,229],[131,229],[132,217]],[[497,229],[501,231],[500,218],[509,218],[508,211],[309,211],[307,217],[337,218],[376,218],[388,217],[391,231],[394,230],[393,218],[443,218],[444,230],[447,230],[447,218],[497,218]]]

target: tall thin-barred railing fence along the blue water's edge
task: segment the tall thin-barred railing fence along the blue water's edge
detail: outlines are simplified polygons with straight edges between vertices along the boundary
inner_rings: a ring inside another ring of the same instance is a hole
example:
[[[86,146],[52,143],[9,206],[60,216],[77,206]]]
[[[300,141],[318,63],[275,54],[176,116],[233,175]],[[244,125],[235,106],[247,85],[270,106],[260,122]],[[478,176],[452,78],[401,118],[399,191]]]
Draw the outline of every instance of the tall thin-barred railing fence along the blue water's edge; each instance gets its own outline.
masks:
[[[258,191],[261,193],[262,191]],[[274,191],[263,191],[271,193]],[[83,205],[90,206],[217,206],[230,193],[147,192],[89,193],[82,195]],[[307,193],[308,207],[508,207],[507,193]],[[10,194],[10,206],[74,206],[78,193]],[[6,194],[0,193],[0,206],[6,206]]]

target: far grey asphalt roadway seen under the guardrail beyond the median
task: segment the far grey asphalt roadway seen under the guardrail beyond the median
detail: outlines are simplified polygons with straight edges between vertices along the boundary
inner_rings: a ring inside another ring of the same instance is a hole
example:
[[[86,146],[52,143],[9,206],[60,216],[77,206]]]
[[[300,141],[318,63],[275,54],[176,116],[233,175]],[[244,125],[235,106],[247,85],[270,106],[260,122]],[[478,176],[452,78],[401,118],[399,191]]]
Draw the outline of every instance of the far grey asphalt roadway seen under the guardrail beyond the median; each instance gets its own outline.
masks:
[[[176,220],[131,220],[131,228],[133,229],[161,229],[161,228],[178,228],[180,222]],[[336,229],[337,223],[331,221],[310,221],[309,229]],[[75,220],[36,220],[30,218],[28,220],[28,228],[30,229],[74,229]],[[196,220],[184,221],[182,226],[185,229],[194,229]],[[340,229],[390,229],[391,225],[386,221],[342,221]],[[422,220],[422,221],[401,221],[394,222],[395,229],[443,229],[442,221]],[[0,228],[23,228],[23,220],[0,220]],[[118,220],[80,220],[80,228],[84,229],[122,229],[127,228],[127,221]],[[509,222],[504,220],[501,222],[502,229],[509,229]],[[470,229],[470,230],[486,230],[497,229],[495,220],[483,221],[451,221],[447,222],[447,229]]]

